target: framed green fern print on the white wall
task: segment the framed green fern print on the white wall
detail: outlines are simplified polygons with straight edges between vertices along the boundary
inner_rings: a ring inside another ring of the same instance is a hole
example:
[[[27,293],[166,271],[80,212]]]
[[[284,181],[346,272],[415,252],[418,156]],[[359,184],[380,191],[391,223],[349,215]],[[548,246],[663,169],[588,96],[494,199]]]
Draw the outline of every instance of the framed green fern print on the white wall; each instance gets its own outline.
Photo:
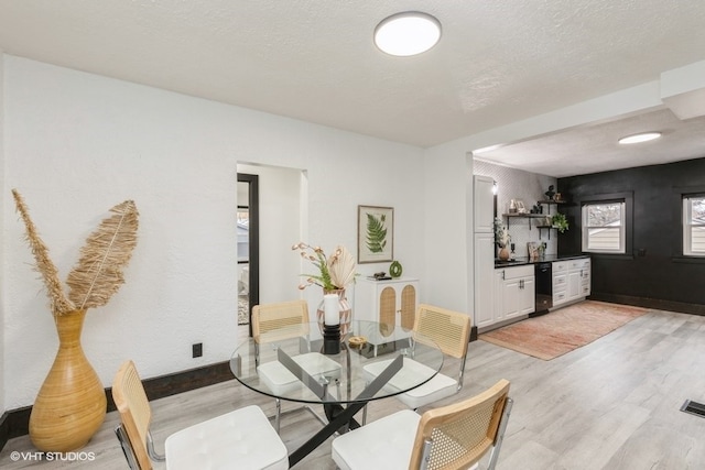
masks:
[[[357,262],[380,263],[394,258],[394,208],[357,206]]]

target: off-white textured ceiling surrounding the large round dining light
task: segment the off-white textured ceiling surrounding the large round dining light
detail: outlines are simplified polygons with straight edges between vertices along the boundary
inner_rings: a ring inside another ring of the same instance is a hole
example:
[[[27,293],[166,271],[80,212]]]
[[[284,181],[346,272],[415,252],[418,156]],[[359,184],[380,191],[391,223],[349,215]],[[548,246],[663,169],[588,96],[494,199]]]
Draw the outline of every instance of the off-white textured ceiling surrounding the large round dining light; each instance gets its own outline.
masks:
[[[372,31],[404,10],[435,15],[442,40],[387,56]],[[424,147],[703,61],[704,24],[705,2],[685,0],[0,0],[8,54]],[[544,174],[563,172],[550,163],[561,140],[524,147]],[[512,146],[497,161],[539,168]]]

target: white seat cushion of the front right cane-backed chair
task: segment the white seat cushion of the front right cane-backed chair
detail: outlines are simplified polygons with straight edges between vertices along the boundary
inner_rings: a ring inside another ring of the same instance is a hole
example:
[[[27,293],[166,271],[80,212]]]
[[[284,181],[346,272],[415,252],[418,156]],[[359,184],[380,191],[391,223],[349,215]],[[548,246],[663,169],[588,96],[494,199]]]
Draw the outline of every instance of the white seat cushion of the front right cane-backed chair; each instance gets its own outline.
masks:
[[[421,416],[403,409],[333,440],[333,460],[341,470],[408,470]]]

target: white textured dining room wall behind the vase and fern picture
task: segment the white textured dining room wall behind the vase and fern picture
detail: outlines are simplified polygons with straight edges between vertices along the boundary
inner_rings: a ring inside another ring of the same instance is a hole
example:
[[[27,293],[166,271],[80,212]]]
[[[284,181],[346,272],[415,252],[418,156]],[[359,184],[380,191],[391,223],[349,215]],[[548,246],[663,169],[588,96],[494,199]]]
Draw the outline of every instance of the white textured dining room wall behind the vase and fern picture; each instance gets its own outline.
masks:
[[[137,203],[140,239],[127,283],[106,307],[88,313],[83,335],[104,385],[126,358],[144,378],[229,358],[238,162],[306,171],[302,233],[313,243],[354,248],[357,205],[393,206],[395,258],[405,274],[424,278],[423,150],[13,56],[3,61],[6,409],[34,401],[57,345],[9,197],[13,187],[63,277],[108,208]],[[285,251],[291,242],[268,243]],[[387,265],[361,266],[380,269]],[[204,342],[200,359],[191,358],[194,341]]]

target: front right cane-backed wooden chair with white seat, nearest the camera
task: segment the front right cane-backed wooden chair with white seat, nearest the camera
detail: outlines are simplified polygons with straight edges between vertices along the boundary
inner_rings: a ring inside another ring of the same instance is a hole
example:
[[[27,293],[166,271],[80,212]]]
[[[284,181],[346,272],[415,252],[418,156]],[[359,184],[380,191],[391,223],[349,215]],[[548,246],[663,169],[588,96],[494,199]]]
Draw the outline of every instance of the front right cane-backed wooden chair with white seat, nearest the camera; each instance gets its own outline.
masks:
[[[467,469],[491,450],[495,469],[512,407],[509,382],[423,415],[403,409],[333,440],[341,470]]]

